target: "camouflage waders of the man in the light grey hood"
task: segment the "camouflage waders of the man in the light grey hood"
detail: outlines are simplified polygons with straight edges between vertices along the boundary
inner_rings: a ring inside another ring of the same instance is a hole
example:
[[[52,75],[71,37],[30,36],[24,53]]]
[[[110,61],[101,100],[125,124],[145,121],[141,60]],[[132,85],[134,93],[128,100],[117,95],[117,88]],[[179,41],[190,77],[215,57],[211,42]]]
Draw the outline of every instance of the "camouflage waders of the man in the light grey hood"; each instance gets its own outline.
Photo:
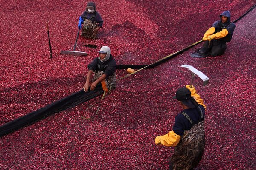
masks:
[[[92,82],[95,82],[96,79],[99,79],[103,75],[103,71],[95,71],[93,74]],[[104,91],[108,92],[112,88],[116,88],[116,74],[102,80],[102,88]]]

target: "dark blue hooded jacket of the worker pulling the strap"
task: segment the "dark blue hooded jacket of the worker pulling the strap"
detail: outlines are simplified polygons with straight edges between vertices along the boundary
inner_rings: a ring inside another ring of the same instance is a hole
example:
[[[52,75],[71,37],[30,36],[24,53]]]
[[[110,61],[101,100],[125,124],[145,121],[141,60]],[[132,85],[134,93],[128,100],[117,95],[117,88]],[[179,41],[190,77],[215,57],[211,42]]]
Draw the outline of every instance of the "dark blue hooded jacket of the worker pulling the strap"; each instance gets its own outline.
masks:
[[[227,22],[222,23],[221,20],[215,21],[212,24],[212,27],[215,28],[214,34],[217,33],[217,32],[220,32],[223,29],[227,29],[227,31],[228,31],[227,36],[218,39],[218,41],[221,41],[221,42],[224,42],[224,43],[225,42],[230,42],[231,39],[232,39],[233,32],[236,28],[236,25],[234,23],[230,22],[230,20],[231,20],[230,11],[224,11],[223,13],[220,14],[220,18],[221,18],[221,16],[228,17]]]

